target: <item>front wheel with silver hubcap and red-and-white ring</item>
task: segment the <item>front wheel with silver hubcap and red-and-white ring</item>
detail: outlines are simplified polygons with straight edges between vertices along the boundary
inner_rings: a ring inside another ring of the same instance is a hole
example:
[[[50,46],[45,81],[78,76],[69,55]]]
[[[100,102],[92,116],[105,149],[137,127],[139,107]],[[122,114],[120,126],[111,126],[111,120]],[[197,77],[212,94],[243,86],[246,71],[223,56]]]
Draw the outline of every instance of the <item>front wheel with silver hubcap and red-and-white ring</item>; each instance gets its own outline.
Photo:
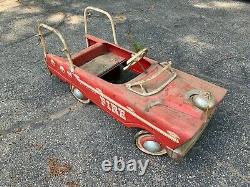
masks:
[[[167,153],[166,149],[147,131],[139,132],[136,137],[136,146],[144,153],[160,156]]]

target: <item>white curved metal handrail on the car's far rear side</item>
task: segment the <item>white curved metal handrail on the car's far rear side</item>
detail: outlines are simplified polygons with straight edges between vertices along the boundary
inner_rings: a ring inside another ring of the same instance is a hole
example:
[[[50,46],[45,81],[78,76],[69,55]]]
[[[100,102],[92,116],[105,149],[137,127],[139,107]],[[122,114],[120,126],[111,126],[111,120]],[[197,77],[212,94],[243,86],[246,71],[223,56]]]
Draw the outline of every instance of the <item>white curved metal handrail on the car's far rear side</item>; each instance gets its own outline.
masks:
[[[116,32],[115,32],[115,24],[114,24],[114,21],[113,21],[111,15],[110,15],[108,12],[106,12],[106,11],[100,9],[100,8],[95,8],[95,7],[92,7],[92,6],[88,6],[88,7],[85,8],[85,10],[84,10],[84,18],[83,18],[83,19],[84,19],[85,37],[86,37],[86,35],[88,34],[88,23],[87,23],[87,21],[88,21],[88,20],[87,20],[87,13],[88,13],[88,10],[94,10],[94,11],[96,11],[96,12],[100,12],[100,13],[102,13],[102,14],[105,14],[105,15],[109,18],[109,21],[110,21],[110,23],[111,23],[112,32],[113,32],[114,42],[115,42],[116,45],[118,45],[118,42],[117,42],[117,39],[116,39]],[[86,38],[86,43],[87,43],[87,47],[89,47],[89,43],[88,43],[87,38]]]

